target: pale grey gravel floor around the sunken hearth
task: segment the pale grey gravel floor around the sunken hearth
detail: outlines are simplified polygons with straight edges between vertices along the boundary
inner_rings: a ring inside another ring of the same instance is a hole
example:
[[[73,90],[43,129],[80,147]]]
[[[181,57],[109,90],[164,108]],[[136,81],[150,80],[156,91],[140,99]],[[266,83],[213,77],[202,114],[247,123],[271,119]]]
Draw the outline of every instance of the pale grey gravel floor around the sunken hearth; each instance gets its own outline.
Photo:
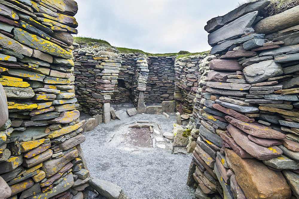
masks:
[[[115,110],[129,108],[132,104],[114,106]],[[127,143],[132,129],[124,124],[135,121],[152,121],[161,125],[162,132],[171,132],[175,116],[138,114],[84,132],[86,141],[81,146],[91,176],[115,183],[131,198],[195,198],[194,189],[186,185],[192,156]]]

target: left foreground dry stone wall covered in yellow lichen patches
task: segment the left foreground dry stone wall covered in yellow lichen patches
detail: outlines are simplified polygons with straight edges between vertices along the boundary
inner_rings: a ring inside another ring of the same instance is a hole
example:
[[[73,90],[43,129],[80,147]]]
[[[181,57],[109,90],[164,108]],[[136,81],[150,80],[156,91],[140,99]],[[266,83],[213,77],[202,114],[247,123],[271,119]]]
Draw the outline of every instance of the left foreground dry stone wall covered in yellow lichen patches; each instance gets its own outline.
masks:
[[[83,198],[73,0],[0,1],[1,198]]]

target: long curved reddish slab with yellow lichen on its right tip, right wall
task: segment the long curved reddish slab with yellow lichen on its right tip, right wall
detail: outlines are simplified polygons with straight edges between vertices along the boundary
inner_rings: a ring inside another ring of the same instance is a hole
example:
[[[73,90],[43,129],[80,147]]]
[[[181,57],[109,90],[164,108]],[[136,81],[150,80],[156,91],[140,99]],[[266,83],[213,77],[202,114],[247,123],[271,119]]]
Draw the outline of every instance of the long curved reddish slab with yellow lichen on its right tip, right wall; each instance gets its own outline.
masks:
[[[242,149],[258,160],[269,160],[283,154],[282,150],[280,150],[277,146],[267,148],[252,142],[249,140],[247,133],[244,133],[231,124],[228,125],[227,129],[234,141],[241,146]]]

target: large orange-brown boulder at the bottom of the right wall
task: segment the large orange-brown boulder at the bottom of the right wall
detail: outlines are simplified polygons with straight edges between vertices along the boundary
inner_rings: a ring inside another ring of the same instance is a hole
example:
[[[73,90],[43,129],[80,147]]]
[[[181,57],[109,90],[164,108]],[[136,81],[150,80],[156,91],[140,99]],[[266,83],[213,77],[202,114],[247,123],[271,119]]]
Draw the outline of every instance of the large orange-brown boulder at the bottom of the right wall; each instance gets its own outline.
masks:
[[[291,189],[281,172],[268,169],[254,159],[242,159],[230,149],[225,149],[225,155],[246,198],[291,197]]]

